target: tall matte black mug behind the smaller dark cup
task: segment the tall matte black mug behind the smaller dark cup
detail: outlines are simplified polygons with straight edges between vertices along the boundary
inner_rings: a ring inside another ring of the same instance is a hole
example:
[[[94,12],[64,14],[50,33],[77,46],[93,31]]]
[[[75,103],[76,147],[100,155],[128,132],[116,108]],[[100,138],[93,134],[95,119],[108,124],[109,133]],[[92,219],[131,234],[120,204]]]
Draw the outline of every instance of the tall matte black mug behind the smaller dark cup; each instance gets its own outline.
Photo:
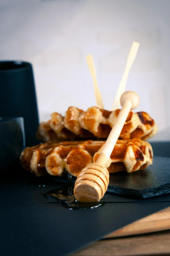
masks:
[[[26,146],[38,143],[38,111],[32,65],[0,61],[0,116],[23,117]]]

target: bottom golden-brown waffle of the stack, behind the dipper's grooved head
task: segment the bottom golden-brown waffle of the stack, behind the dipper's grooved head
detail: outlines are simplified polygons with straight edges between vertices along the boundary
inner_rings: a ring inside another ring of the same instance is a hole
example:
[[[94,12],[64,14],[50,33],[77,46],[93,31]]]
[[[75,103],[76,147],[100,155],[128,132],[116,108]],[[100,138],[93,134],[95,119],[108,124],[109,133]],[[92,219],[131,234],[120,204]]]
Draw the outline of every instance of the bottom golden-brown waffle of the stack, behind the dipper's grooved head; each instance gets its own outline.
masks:
[[[104,141],[47,142],[26,148],[21,153],[23,168],[41,176],[60,176],[64,169],[77,177],[87,164],[96,162]],[[109,173],[134,172],[152,164],[152,147],[140,139],[118,140],[106,168]]]

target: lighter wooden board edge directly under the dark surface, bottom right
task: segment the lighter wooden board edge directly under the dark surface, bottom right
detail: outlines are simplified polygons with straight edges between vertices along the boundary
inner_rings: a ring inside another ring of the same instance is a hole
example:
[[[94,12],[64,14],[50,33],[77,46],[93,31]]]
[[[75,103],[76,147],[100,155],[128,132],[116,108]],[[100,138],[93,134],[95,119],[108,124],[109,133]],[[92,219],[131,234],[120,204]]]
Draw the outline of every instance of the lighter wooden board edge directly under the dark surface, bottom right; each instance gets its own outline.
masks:
[[[135,221],[132,224],[110,233],[105,238],[136,235],[168,229],[170,229],[170,207]]]

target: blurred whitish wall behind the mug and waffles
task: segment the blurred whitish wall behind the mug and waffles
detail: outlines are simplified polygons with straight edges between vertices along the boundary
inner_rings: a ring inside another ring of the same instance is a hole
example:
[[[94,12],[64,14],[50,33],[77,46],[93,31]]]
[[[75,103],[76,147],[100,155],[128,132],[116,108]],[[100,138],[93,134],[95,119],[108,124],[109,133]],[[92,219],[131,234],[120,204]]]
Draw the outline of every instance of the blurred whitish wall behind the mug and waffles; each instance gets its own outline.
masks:
[[[40,121],[68,106],[95,105],[92,53],[110,110],[133,41],[140,48],[127,90],[170,140],[170,0],[1,0],[0,59],[33,63]]]

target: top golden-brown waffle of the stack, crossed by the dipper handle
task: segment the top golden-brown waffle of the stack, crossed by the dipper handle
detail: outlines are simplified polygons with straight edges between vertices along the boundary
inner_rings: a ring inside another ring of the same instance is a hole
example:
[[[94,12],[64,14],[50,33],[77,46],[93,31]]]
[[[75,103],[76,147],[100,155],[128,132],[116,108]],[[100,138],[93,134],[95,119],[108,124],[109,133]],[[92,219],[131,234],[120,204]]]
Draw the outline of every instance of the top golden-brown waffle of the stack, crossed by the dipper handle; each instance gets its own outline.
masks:
[[[41,123],[37,130],[37,137],[41,141],[95,137],[106,139],[119,112],[119,109],[107,111],[97,107],[88,108],[84,112],[76,107],[69,107],[65,117],[55,112],[51,114],[50,121]],[[156,132],[157,125],[149,114],[130,111],[119,138],[147,140]]]

